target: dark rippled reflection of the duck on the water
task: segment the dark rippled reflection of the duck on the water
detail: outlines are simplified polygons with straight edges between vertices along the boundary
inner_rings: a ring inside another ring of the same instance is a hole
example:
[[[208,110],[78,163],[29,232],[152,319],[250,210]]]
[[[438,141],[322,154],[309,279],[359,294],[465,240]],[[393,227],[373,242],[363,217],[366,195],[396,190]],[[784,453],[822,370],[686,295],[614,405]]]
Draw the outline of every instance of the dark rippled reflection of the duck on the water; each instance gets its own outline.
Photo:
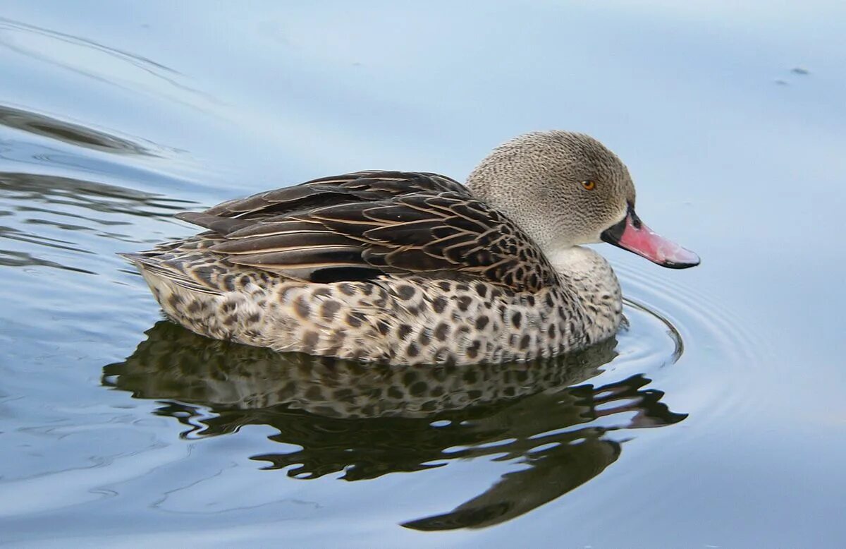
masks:
[[[685,417],[660,402],[661,391],[645,389],[643,375],[583,383],[616,356],[616,341],[528,364],[397,368],[244,347],[167,321],[147,336],[104,368],[103,384],[171,401],[157,413],[190,426],[184,436],[266,424],[278,430],[273,441],[301,447],[252,457],[266,469],[364,480],[458,458],[520,464],[452,511],[403,524],[416,530],[479,528],[528,513],[617,459],[609,431]]]

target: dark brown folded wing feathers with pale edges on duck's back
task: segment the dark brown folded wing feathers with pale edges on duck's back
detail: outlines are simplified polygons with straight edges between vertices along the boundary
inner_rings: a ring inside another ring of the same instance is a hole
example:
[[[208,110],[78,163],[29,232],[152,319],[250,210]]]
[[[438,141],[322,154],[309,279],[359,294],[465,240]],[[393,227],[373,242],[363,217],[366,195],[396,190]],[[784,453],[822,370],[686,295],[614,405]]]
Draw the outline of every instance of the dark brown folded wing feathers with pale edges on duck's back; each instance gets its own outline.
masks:
[[[522,231],[441,175],[340,175],[178,217],[224,236],[210,250],[232,263],[302,280],[460,271],[536,291],[552,276]]]

